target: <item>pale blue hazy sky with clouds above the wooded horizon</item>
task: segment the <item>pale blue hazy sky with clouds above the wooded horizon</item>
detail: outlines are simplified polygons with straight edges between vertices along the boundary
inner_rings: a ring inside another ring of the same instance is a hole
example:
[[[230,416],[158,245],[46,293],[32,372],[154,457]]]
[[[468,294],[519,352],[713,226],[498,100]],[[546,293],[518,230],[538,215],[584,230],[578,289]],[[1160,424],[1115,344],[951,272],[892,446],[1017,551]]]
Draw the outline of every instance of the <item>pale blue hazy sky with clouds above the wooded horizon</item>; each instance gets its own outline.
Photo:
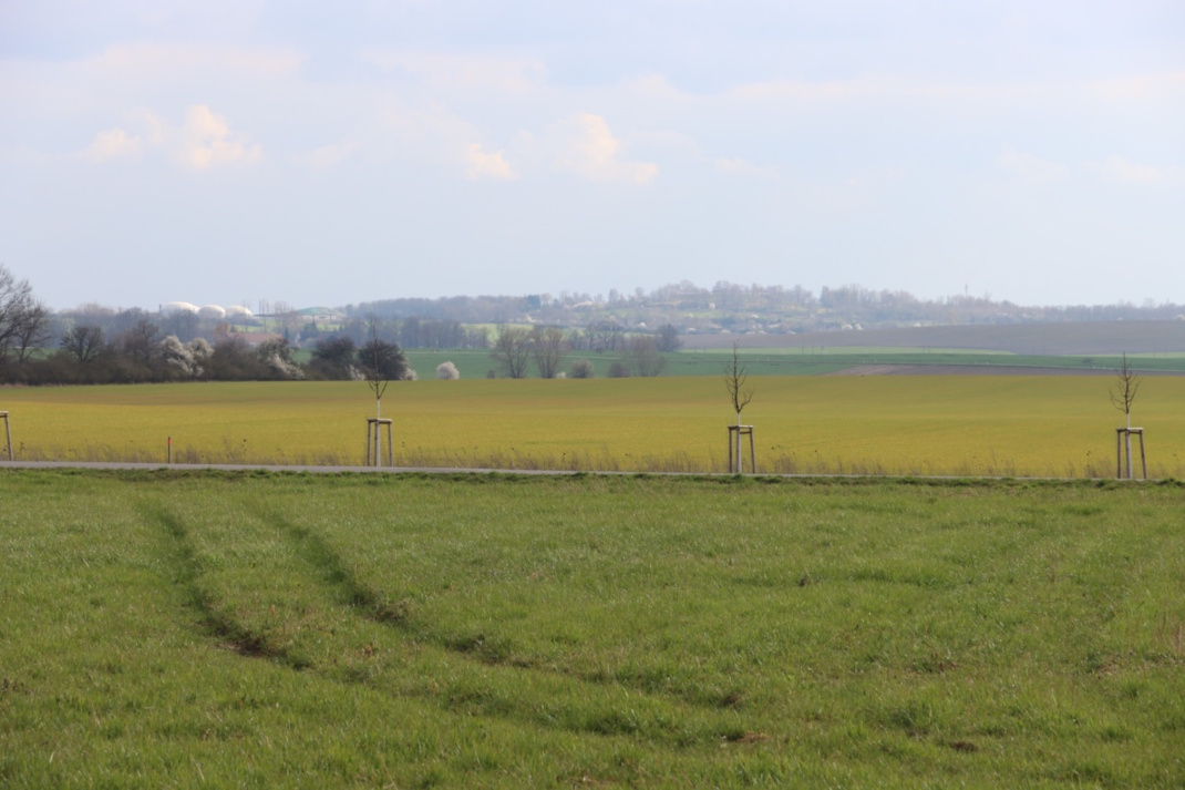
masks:
[[[1179,0],[0,0],[51,307],[1185,304]]]

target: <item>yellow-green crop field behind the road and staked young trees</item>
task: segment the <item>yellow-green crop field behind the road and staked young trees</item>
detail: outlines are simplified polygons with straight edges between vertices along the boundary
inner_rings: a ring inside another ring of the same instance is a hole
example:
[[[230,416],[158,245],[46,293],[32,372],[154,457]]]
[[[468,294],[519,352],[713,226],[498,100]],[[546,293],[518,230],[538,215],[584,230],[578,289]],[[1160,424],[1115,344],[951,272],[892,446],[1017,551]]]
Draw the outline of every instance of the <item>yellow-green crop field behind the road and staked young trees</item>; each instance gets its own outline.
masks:
[[[1107,376],[752,377],[757,471],[1109,477]],[[334,464],[364,460],[358,382],[0,390],[25,460]],[[401,466],[725,471],[735,421],[719,376],[392,383]],[[1133,409],[1149,477],[1185,472],[1185,378],[1148,377]],[[384,455],[386,454],[384,448]],[[1136,446],[1138,457],[1138,446]]]

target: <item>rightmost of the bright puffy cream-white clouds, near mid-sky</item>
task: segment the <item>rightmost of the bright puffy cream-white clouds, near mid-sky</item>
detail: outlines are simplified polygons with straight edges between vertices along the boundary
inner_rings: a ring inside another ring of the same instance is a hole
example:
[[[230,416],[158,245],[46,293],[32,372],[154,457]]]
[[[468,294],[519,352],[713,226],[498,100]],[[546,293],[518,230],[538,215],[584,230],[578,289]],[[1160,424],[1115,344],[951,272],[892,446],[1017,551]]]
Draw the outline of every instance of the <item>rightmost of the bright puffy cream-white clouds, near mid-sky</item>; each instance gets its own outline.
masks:
[[[549,126],[544,139],[552,167],[592,181],[648,184],[659,173],[654,163],[621,159],[621,141],[600,115],[570,115]]]

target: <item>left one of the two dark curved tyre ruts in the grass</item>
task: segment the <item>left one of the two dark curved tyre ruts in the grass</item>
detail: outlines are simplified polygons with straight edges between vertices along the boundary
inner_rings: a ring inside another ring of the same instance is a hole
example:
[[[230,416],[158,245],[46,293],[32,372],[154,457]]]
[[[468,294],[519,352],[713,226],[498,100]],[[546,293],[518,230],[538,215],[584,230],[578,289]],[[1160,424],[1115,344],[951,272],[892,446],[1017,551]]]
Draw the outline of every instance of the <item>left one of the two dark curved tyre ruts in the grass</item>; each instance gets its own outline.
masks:
[[[267,658],[293,669],[305,669],[303,661],[294,658],[282,646],[263,633],[256,633],[219,609],[214,597],[201,586],[201,559],[193,548],[185,522],[162,507],[141,505],[143,516],[164,528],[172,543],[171,565],[186,603],[198,612],[201,629],[219,639],[232,651],[248,658]]]

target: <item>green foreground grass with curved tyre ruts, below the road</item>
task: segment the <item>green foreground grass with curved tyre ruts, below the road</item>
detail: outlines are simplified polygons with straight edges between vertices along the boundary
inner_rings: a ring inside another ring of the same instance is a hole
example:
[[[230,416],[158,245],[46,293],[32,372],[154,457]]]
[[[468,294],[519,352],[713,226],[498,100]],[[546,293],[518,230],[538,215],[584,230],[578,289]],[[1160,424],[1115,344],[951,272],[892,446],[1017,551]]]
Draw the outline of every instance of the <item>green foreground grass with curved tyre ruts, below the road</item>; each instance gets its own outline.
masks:
[[[5,786],[1179,786],[1177,484],[0,472]]]

